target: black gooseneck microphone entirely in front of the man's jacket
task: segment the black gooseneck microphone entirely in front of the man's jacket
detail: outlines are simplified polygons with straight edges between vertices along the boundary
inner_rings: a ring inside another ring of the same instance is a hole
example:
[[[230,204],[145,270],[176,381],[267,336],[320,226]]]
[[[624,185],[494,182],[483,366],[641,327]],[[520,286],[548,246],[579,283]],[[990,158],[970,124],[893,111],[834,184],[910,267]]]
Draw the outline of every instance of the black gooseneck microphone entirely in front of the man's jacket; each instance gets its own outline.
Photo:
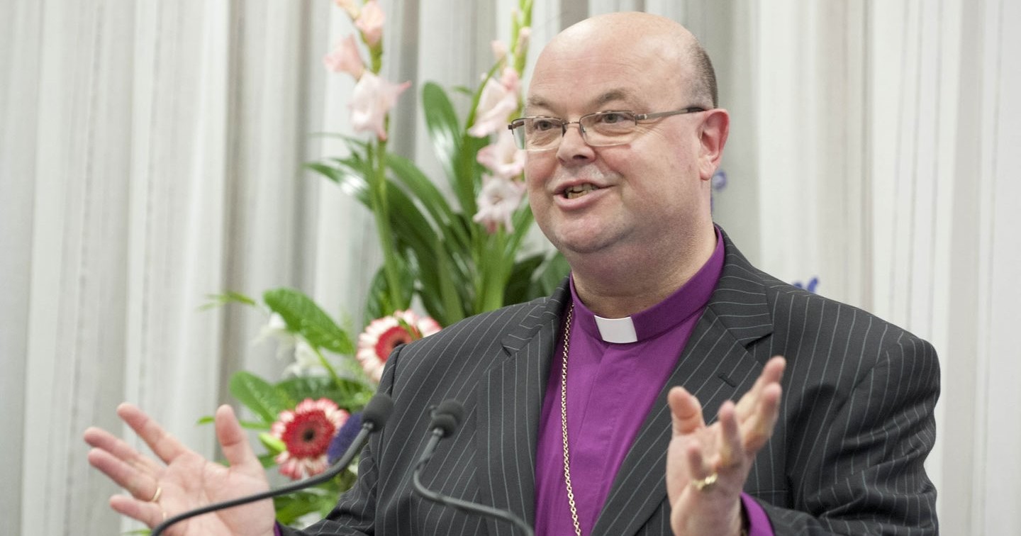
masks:
[[[503,520],[514,524],[527,536],[535,536],[535,532],[528,526],[528,524],[525,523],[525,520],[515,516],[514,513],[509,510],[498,509],[485,504],[455,499],[453,497],[443,495],[442,493],[432,491],[422,485],[422,470],[425,469],[426,464],[432,459],[433,453],[436,451],[436,446],[439,444],[441,439],[449,437],[453,434],[457,426],[460,425],[460,421],[464,417],[465,407],[460,405],[460,402],[453,399],[443,400],[436,406],[435,409],[433,409],[433,421],[429,424],[429,442],[426,443],[426,448],[419,457],[419,461],[415,465],[415,473],[411,475],[411,482],[415,484],[415,492],[428,500],[444,506],[456,508],[460,511]]]

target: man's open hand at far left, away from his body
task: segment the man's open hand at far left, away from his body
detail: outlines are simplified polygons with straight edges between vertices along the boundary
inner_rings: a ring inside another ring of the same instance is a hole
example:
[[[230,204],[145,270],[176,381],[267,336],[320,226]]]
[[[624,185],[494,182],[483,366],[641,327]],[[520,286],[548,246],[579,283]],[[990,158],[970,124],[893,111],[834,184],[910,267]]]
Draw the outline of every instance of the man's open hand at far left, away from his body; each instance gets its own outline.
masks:
[[[159,458],[143,455],[105,430],[91,427],[85,431],[85,441],[93,447],[89,464],[130,494],[110,497],[110,506],[125,516],[155,527],[186,510],[270,487],[261,464],[228,405],[216,410],[216,438],[230,467],[209,461],[185,447],[134,405],[120,404],[117,416]],[[273,535],[274,521],[273,501],[266,499],[182,521],[164,534]]]

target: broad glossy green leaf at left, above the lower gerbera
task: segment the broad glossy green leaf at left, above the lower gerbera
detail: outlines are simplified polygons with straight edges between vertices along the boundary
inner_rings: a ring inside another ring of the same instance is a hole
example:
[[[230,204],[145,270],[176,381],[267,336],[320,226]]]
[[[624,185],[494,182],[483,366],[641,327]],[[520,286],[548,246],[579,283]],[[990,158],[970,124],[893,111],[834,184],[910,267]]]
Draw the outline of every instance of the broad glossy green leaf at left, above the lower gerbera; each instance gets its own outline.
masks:
[[[262,294],[262,301],[284,319],[288,329],[301,334],[308,344],[342,355],[354,353],[354,345],[347,332],[304,293],[288,288],[273,289]]]

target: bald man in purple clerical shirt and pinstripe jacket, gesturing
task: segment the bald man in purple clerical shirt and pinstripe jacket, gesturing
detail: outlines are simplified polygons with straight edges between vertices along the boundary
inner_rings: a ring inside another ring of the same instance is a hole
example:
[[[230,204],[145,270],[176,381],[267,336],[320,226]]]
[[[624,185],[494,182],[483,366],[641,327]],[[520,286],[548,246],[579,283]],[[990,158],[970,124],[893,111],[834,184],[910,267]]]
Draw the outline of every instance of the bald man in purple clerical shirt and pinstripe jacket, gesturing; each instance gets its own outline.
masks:
[[[759,272],[714,227],[729,128],[716,106],[709,58],[668,19],[597,16],[544,49],[512,129],[570,281],[395,351],[380,385],[394,412],[354,489],[305,534],[513,534],[411,491],[429,407],[447,398],[467,417],[425,485],[537,534],[936,533],[923,469],[935,352]],[[155,525],[265,489],[229,408],[216,433],[230,469],[118,412],[166,465],[87,431],[90,462],[132,494],[111,499],[117,511]],[[263,501],[178,534],[275,530],[291,533]]]

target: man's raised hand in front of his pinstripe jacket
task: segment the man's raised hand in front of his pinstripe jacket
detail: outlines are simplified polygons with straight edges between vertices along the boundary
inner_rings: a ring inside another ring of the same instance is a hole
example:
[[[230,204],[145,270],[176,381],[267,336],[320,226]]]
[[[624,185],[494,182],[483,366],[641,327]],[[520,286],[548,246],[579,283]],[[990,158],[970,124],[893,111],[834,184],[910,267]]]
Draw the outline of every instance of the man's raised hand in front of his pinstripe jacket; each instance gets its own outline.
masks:
[[[674,534],[740,534],[741,489],[756,452],[773,434],[785,364],[783,357],[770,359],[751,390],[736,405],[724,402],[712,426],[706,426],[694,396],[682,387],[671,389],[667,494]]]

